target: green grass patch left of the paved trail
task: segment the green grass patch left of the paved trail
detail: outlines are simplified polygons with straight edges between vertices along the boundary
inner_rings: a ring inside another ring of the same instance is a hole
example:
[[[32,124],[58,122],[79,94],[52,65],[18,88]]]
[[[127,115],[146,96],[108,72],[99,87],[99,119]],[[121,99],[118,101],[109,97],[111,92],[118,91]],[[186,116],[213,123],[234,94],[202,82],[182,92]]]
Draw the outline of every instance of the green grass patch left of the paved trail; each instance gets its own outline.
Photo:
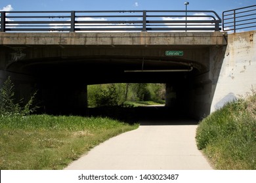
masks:
[[[63,169],[101,142],[139,125],[81,116],[1,116],[0,169]]]

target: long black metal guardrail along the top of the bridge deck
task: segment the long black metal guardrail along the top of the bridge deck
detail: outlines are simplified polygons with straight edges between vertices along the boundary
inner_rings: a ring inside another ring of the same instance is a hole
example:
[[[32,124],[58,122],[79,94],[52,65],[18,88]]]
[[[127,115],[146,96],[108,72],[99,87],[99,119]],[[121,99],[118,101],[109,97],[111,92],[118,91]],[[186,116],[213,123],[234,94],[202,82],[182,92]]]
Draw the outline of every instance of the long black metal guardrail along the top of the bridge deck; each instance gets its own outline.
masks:
[[[220,31],[211,10],[10,11],[1,32],[43,31]]]

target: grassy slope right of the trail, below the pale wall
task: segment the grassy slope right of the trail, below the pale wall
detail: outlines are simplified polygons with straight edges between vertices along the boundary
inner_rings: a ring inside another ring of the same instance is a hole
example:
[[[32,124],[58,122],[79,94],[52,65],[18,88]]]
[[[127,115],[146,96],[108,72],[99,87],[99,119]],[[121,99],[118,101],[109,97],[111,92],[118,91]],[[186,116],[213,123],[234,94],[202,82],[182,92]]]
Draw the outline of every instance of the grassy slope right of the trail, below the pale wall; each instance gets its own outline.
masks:
[[[228,103],[203,119],[198,148],[216,169],[256,169],[256,94]]]

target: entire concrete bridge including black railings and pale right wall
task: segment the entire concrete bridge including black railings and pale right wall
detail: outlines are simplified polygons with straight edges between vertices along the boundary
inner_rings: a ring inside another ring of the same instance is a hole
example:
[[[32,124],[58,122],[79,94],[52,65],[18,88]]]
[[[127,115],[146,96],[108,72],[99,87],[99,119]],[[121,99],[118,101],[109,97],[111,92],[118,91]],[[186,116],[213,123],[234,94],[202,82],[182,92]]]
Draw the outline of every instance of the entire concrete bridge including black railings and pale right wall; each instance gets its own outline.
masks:
[[[255,85],[255,31],[236,33],[253,10],[0,12],[0,85],[11,75],[18,97],[39,89],[61,113],[83,111],[87,84],[166,83],[167,106],[199,119]]]

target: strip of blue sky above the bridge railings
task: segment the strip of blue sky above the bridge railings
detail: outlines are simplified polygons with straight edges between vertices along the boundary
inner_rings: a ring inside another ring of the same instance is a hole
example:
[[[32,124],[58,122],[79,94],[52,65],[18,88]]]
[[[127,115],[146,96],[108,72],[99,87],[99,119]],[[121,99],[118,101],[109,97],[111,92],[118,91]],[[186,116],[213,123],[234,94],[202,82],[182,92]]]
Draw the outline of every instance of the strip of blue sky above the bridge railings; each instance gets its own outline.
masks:
[[[0,10],[184,10],[184,0],[0,0]],[[224,10],[256,5],[255,0],[188,0],[188,10]]]

